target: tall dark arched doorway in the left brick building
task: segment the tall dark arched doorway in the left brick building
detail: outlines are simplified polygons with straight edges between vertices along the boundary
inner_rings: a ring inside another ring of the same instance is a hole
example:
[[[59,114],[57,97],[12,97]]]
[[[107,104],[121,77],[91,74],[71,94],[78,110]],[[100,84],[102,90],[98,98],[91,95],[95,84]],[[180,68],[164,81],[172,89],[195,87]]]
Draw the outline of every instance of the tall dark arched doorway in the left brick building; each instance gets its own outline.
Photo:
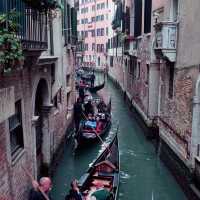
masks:
[[[36,162],[37,162],[37,176],[47,175],[48,170],[45,170],[44,165],[44,129],[45,129],[45,118],[44,106],[48,105],[49,92],[48,86],[45,79],[41,79],[37,85],[35,93],[35,110],[34,115],[37,116],[37,122],[35,124],[35,141],[36,141]]]

